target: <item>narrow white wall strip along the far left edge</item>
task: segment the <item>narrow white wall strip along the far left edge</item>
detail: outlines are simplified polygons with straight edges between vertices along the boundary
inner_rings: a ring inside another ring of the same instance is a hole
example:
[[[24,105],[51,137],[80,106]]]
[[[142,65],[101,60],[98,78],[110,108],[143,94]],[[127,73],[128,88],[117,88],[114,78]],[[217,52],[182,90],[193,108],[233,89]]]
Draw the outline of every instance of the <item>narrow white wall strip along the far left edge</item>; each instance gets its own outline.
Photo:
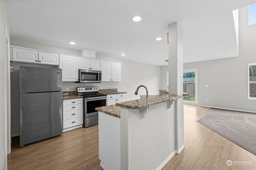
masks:
[[[7,25],[7,31],[10,33],[9,21],[6,13],[5,1],[0,1],[0,169],[7,169],[7,144],[6,144],[6,98],[4,93],[6,87],[4,86],[7,77],[6,72],[6,38],[4,29]],[[10,37],[9,37],[10,38]]]

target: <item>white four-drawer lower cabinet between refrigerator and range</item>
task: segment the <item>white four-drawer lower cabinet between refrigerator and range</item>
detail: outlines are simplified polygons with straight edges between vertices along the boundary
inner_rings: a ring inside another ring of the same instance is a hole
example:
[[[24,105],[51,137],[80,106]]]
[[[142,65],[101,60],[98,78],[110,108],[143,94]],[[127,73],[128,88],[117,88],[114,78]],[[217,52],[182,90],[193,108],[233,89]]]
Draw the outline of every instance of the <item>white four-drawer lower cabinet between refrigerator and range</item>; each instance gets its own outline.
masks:
[[[63,131],[82,127],[83,124],[83,99],[63,101]]]

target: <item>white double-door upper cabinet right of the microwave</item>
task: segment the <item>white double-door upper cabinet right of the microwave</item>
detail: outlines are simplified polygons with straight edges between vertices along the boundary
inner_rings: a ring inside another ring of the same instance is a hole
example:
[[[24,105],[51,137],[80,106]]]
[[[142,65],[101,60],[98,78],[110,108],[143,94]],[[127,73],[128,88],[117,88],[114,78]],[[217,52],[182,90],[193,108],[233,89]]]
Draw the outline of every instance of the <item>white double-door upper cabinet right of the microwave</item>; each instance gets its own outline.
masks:
[[[121,81],[121,63],[101,61],[102,81]]]

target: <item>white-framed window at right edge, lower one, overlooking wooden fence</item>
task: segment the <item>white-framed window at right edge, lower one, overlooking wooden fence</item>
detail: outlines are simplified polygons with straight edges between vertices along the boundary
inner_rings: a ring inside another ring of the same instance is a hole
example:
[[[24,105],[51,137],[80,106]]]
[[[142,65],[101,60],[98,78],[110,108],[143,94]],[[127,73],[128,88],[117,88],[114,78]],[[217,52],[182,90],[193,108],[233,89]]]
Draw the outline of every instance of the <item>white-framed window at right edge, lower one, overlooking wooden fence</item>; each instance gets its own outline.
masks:
[[[249,72],[249,98],[256,100],[256,63],[248,64]]]

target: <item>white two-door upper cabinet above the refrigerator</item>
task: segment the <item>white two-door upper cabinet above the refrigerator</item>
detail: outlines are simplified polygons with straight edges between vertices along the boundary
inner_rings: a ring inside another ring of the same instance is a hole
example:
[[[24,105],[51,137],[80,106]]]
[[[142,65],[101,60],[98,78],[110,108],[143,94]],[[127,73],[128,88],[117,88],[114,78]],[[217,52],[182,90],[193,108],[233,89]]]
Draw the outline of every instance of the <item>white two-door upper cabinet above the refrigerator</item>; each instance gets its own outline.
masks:
[[[59,65],[59,55],[29,49],[12,48],[12,61],[22,63],[38,63]]]

